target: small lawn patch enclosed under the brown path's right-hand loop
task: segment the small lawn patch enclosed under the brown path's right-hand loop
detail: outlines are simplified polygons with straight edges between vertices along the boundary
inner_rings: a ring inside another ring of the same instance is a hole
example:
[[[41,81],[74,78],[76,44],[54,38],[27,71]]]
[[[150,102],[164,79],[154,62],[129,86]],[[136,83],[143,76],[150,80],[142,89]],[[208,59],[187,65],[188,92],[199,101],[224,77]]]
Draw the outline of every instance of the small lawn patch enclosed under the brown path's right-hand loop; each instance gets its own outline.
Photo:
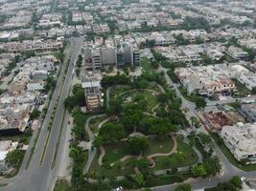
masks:
[[[152,138],[150,141],[150,147],[146,151],[145,156],[153,153],[168,153],[174,147],[172,138]]]

